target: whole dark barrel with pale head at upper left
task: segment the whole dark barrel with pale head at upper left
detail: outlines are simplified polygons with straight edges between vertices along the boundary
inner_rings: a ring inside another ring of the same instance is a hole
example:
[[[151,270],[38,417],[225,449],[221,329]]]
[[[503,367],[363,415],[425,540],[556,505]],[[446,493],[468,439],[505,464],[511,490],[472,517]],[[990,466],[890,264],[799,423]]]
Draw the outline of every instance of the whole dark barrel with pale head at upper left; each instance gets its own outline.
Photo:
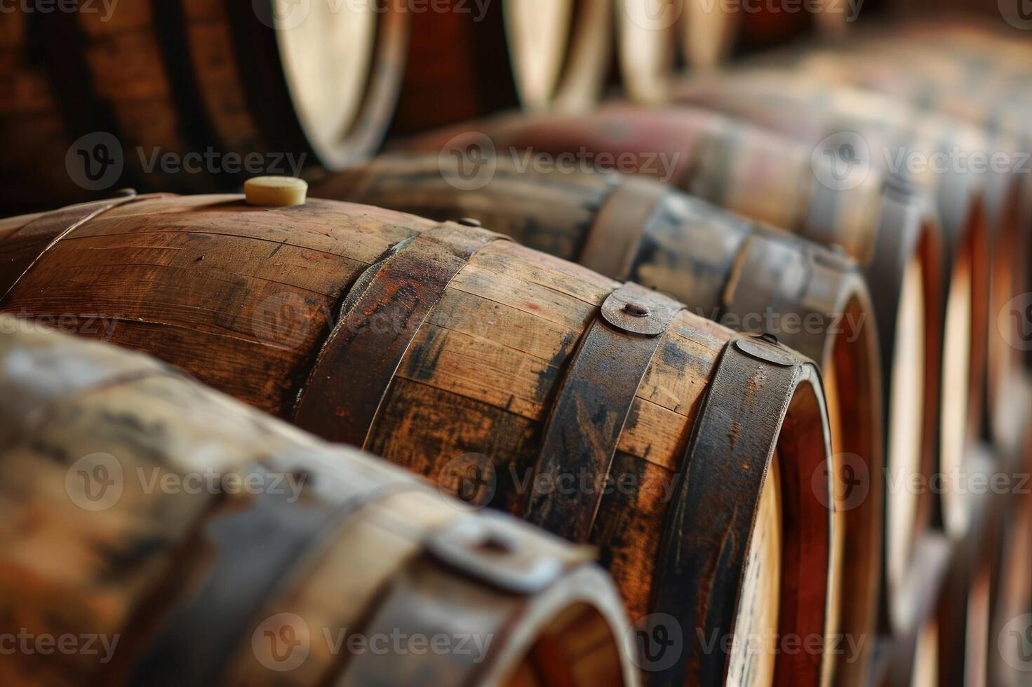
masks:
[[[4,14],[4,205],[233,189],[380,144],[407,45],[398,3],[79,5]]]

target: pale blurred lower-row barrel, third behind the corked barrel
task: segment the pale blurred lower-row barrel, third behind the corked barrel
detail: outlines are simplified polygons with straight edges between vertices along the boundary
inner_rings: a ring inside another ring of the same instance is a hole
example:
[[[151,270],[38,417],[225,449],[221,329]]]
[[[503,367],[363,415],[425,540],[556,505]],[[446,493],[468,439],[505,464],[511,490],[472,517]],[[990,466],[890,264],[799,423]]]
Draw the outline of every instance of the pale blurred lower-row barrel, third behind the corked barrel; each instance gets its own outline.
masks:
[[[986,185],[1004,181],[1007,195],[1017,198],[1020,192],[1013,177],[1000,179],[971,170],[972,155],[992,154],[988,139],[962,123],[921,113],[876,94],[780,70],[746,72],[719,83],[686,83],[677,97],[814,144],[814,155],[832,156],[843,174],[881,167],[936,198],[947,248],[938,469],[943,476],[962,472],[982,420],[992,232]],[[956,155],[963,157],[957,160]],[[913,156],[920,167],[911,166]],[[944,166],[936,164],[940,158],[947,161]],[[969,499],[947,489],[937,502],[946,530],[963,535],[969,526]]]

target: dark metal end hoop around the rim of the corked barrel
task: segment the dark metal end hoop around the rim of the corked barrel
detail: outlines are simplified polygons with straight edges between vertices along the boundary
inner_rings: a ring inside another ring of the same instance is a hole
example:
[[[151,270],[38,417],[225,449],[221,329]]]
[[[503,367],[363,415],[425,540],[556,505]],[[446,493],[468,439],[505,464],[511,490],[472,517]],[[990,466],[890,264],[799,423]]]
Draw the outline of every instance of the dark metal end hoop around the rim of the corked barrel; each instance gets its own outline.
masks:
[[[681,461],[659,544],[651,606],[654,614],[677,620],[685,647],[655,684],[723,681],[727,647],[707,651],[700,637],[724,637],[734,630],[764,479],[806,365],[764,337],[741,336],[724,347]]]

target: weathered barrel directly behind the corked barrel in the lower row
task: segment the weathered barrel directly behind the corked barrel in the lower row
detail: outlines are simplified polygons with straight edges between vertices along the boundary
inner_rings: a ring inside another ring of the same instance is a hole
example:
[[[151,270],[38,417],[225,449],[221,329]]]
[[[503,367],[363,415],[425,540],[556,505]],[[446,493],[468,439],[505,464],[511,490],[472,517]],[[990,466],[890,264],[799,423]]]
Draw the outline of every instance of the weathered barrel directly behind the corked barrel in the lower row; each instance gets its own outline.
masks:
[[[534,173],[502,159],[489,184],[467,190],[459,165],[452,157],[384,156],[313,193],[439,221],[474,219],[528,248],[669,293],[733,329],[774,334],[818,361],[832,452],[845,458],[835,509],[850,590],[841,629],[873,636],[883,542],[881,378],[870,295],[856,264],[651,179]],[[866,653],[841,655],[838,683],[867,684],[869,663]]]

